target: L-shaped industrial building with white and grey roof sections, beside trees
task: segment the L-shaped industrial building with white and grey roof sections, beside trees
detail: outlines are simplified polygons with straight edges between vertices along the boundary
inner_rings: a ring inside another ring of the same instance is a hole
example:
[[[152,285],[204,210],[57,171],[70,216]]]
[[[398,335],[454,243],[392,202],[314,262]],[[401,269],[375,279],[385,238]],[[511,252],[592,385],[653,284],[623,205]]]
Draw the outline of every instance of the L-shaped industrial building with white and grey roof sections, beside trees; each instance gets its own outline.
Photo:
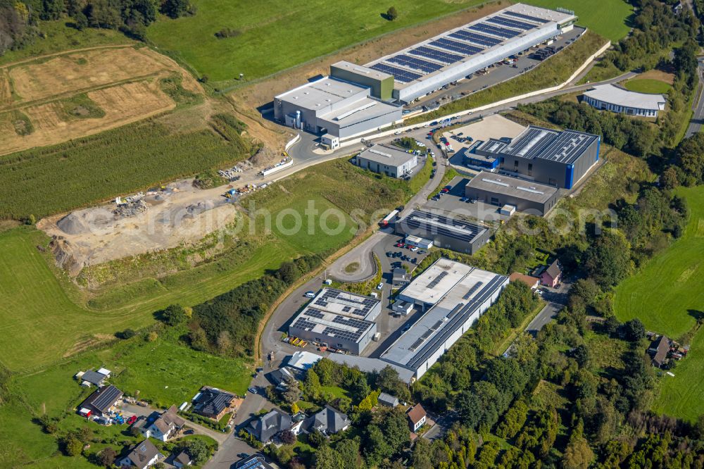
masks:
[[[380,356],[417,380],[498,299],[508,277],[439,258],[398,294],[425,313]]]

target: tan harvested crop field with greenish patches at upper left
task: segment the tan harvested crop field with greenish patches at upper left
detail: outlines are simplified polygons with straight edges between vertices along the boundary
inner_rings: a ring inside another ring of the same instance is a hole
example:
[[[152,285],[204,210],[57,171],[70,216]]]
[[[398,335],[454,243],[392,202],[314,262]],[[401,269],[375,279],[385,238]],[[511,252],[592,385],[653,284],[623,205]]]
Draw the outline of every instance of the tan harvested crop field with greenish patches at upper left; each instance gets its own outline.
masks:
[[[146,47],[91,49],[0,68],[0,155],[93,135],[163,113],[176,104],[162,89],[178,65]]]

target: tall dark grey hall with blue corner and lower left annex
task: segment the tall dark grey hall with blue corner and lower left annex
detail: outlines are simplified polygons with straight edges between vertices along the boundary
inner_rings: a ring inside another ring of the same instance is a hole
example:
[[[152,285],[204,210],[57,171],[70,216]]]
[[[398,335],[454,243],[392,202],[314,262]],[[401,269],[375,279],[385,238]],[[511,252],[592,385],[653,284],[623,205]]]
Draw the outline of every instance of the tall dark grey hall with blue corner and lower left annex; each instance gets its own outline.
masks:
[[[572,189],[599,159],[601,137],[576,130],[529,126],[514,139],[476,142],[466,158],[484,156],[486,168],[554,187]],[[475,165],[481,161],[476,159]]]

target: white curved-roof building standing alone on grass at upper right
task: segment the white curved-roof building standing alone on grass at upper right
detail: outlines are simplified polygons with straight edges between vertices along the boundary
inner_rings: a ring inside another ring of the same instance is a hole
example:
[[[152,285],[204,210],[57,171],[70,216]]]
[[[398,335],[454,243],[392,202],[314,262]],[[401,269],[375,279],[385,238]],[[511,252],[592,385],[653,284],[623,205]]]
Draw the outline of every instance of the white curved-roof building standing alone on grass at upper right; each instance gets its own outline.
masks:
[[[597,85],[584,92],[584,102],[605,111],[658,117],[658,112],[665,110],[667,99],[664,94],[638,93],[615,85]]]

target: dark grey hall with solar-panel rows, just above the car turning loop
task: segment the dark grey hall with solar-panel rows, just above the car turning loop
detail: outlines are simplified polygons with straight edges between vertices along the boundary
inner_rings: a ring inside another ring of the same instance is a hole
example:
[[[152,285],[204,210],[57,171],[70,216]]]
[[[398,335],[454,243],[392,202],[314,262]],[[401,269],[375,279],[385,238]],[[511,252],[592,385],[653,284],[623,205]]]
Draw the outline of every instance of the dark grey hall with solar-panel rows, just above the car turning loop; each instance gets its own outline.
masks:
[[[467,254],[476,253],[491,238],[489,228],[439,212],[416,210],[394,227],[398,235],[429,239],[435,246]]]

